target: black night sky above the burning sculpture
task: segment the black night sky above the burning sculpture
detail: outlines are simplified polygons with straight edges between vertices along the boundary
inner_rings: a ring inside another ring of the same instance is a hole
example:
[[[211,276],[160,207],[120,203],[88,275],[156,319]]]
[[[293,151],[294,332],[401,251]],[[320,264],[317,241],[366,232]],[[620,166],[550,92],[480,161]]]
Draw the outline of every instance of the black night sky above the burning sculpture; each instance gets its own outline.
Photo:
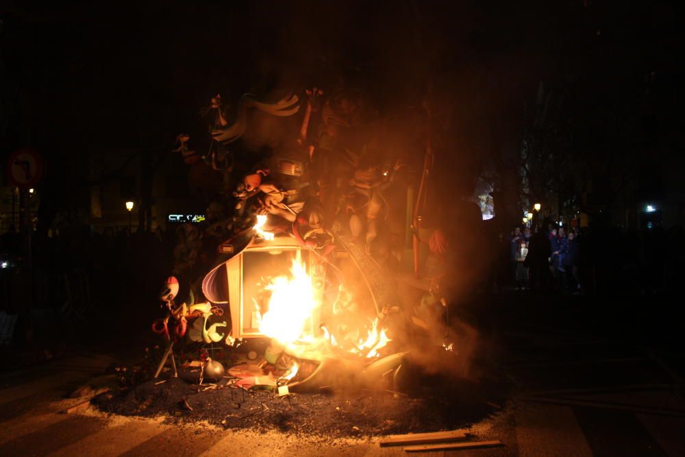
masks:
[[[97,151],[168,149],[180,132],[202,148],[199,109],[217,92],[342,78],[384,115],[430,85],[453,154],[475,167],[519,149],[540,82],[559,88],[567,146],[590,156],[635,146],[612,132],[626,112],[620,129],[646,132],[636,160],[653,154],[682,98],[677,11],[651,2],[14,2],[0,18],[1,152],[40,151],[54,188]]]

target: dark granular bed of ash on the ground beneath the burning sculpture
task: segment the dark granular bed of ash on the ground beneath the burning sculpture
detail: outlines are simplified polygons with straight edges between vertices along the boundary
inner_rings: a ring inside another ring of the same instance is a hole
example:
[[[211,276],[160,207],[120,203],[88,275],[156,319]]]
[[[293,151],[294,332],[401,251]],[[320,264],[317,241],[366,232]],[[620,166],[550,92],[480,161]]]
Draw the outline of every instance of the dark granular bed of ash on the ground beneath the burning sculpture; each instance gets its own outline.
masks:
[[[348,437],[467,427],[501,409],[508,391],[495,378],[471,382],[424,375],[404,386],[402,394],[362,390],[279,396],[231,387],[227,378],[199,385],[192,375],[180,374],[105,392],[92,403],[104,412],[164,416],[177,423],[207,421],[226,429]]]

